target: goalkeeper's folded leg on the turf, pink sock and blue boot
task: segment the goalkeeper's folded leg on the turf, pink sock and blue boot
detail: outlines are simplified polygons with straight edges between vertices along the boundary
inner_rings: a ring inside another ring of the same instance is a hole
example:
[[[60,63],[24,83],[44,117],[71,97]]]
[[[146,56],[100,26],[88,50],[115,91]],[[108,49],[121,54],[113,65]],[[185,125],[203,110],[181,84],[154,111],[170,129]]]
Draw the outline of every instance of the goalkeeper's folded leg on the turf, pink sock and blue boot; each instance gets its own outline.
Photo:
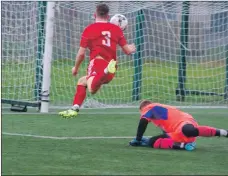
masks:
[[[179,149],[179,150],[194,150],[195,143],[175,142],[169,138],[167,134],[151,137],[148,140],[148,146],[156,149]]]

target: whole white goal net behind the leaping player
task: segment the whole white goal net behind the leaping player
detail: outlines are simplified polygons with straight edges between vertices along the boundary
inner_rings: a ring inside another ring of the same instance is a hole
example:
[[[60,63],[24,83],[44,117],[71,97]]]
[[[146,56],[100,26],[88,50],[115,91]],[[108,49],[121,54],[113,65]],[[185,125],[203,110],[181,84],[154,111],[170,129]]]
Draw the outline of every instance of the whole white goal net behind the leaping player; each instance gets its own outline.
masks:
[[[71,68],[83,29],[98,2],[55,2],[50,104],[70,106],[77,79]],[[142,99],[172,105],[227,105],[227,2],[107,2],[124,14],[124,31],[137,52],[118,51],[115,79],[84,107],[134,106]],[[2,100],[39,103],[43,78],[46,4],[2,2]]]

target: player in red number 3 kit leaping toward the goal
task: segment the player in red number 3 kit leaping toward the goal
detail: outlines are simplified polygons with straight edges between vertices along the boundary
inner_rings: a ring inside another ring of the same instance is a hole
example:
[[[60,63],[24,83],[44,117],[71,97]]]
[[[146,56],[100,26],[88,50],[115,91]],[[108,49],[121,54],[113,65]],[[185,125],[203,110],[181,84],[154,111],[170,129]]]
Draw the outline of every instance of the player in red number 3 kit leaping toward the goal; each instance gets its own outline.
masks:
[[[95,23],[87,26],[82,33],[75,66],[72,68],[72,74],[76,76],[88,48],[90,50],[90,62],[87,75],[78,80],[71,109],[59,113],[65,118],[75,117],[78,114],[86,97],[87,88],[91,94],[95,94],[102,84],[112,81],[116,72],[117,45],[120,45],[127,55],[136,51],[134,44],[127,44],[120,27],[108,22],[109,7],[106,4],[100,4],[96,7],[94,17]]]

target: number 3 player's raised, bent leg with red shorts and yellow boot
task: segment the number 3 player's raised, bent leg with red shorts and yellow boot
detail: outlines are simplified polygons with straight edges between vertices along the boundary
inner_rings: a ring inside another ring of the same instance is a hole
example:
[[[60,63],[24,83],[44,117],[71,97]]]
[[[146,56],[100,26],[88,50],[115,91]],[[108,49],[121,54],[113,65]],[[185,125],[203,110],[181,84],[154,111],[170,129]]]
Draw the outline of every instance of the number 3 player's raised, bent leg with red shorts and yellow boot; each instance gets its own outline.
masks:
[[[96,59],[92,72],[92,77],[87,80],[87,87],[90,93],[95,94],[102,84],[110,82],[110,74],[116,71],[116,61],[111,60],[109,63],[103,59]],[[112,77],[113,78],[113,77]],[[108,80],[108,81],[107,81]]]

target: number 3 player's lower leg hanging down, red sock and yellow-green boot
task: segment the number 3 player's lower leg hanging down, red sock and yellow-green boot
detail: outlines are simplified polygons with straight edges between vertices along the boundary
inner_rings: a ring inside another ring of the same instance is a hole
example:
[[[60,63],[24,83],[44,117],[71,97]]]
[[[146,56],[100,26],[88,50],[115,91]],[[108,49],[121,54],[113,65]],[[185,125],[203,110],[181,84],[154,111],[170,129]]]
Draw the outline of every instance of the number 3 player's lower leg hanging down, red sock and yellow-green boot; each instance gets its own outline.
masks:
[[[83,76],[78,80],[77,88],[76,88],[77,90],[73,100],[73,106],[66,111],[60,112],[59,115],[61,115],[64,118],[72,118],[77,116],[79,112],[79,108],[86,97],[86,87],[87,87],[86,82],[87,82],[86,76]]]

